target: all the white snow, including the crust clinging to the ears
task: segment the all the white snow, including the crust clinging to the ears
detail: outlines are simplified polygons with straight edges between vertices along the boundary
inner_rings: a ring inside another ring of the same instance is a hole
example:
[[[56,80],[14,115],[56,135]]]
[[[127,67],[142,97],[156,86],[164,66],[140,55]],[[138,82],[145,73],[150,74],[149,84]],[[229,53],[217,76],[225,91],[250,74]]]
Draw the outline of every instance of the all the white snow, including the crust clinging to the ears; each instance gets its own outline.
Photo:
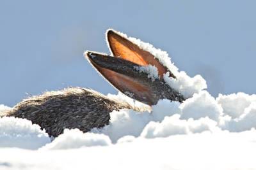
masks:
[[[65,129],[55,139],[29,120],[2,117],[0,169],[256,169],[256,95],[214,98],[201,76],[190,78],[166,52],[129,39],[159,58],[177,76],[166,73],[166,83],[189,98],[149,107],[120,92],[108,94],[134,110],[109,113],[102,129]],[[157,78],[153,66],[141,71]],[[10,109],[1,104],[0,115]]]

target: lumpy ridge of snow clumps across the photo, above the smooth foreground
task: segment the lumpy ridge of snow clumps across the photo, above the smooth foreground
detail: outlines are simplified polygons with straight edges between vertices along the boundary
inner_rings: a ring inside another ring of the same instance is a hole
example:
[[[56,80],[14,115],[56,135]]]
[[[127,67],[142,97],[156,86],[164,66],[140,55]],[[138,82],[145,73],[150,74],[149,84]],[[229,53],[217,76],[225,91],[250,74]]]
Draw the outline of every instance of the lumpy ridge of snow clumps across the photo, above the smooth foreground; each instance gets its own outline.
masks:
[[[144,107],[122,94],[109,96],[133,103],[136,107]],[[237,104],[240,104],[239,107]],[[0,118],[0,147],[36,149],[43,146],[40,150],[66,150],[133,143],[137,139],[147,138],[255,132],[256,103],[254,95],[238,93],[220,95],[215,99],[203,90],[183,103],[163,99],[152,106],[151,110],[113,111],[110,117],[109,125],[102,129],[92,129],[85,134],[78,129],[66,129],[52,142],[38,125],[32,125],[30,121],[21,118],[3,117]]]

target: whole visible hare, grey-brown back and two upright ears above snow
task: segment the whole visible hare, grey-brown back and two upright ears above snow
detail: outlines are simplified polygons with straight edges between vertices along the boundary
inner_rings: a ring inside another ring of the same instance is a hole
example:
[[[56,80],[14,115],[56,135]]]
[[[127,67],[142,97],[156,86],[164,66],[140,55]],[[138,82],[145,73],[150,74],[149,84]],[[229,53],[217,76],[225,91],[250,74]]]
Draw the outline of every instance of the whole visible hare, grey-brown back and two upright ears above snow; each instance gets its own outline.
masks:
[[[154,55],[112,29],[106,32],[106,37],[113,56],[97,52],[86,52],[84,56],[113,87],[150,106],[164,98],[184,101],[184,96],[164,83],[163,74],[169,70]],[[159,79],[152,81],[147,73],[134,69],[149,64],[157,67]],[[111,111],[124,108],[136,110],[128,103],[109,99],[94,90],[71,87],[24,99],[4,116],[31,120],[56,137],[65,128],[87,132],[94,127],[104,127],[109,124]]]

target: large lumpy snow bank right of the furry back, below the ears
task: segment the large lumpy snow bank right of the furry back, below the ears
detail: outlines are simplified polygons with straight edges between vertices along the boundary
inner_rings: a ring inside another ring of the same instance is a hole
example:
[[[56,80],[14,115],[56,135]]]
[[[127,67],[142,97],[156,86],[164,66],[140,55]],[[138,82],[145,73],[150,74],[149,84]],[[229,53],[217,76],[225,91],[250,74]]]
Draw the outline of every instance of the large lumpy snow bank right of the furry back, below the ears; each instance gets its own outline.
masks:
[[[232,94],[229,97],[231,100],[239,96],[241,94]],[[230,101],[229,97],[225,96],[225,100]],[[232,118],[230,112],[225,112],[227,107],[231,108],[230,104],[222,108],[226,105],[221,99],[221,96],[214,99],[211,94],[203,90],[184,103],[160,100],[152,106],[151,112],[113,111],[110,113],[110,124],[102,129],[92,129],[92,132],[105,134],[116,143],[118,140],[125,141],[122,139],[125,136],[159,138],[201,132],[242,132],[256,128],[256,103],[253,100],[249,106],[247,103],[243,106],[243,111],[241,108],[236,110],[234,106],[232,110],[241,112],[241,115]]]

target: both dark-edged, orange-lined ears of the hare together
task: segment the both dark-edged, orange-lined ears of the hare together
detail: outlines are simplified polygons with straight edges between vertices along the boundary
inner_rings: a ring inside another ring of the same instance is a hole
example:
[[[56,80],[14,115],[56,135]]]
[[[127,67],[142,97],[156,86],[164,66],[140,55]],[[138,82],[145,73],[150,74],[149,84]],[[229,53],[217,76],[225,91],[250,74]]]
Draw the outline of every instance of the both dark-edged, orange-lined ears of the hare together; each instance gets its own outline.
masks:
[[[170,99],[172,101],[184,101],[184,97],[174,90],[163,80],[163,74],[167,71],[175,78],[152,53],[142,50],[129,39],[112,29],[106,32],[106,38],[112,55],[99,52],[85,53],[85,57],[92,66],[120,92],[152,105],[159,99]],[[155,66],[158,78],[148,78],[148,73],[141,71],[141,67]]]

